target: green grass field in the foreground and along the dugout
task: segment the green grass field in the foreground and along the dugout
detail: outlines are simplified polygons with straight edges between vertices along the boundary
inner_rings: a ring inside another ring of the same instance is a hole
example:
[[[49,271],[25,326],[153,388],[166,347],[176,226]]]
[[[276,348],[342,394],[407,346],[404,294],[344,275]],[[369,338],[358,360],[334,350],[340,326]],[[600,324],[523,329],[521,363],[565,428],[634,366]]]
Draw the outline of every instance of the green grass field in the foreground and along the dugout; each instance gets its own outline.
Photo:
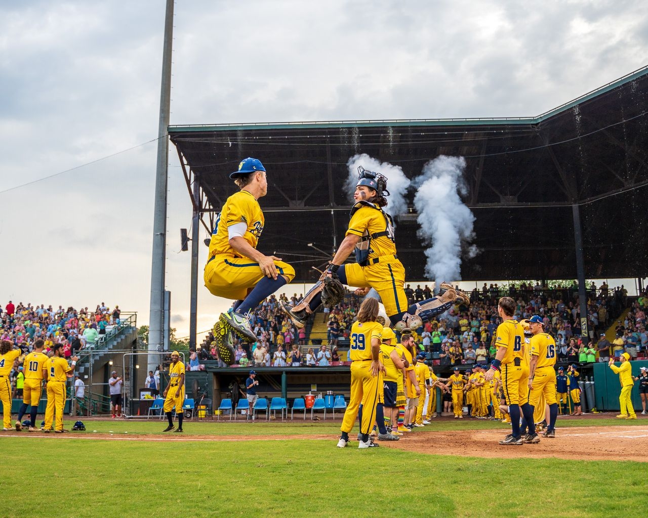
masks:
[[[66,423],[71,424],[69,420]],[[643,420],[623,425],[641,425]],[[560,427],[618,425],[569,419]],[[165,422],[86,420],[88,440],[2,438],[6,517],[616,517],[645,515],[640,462],[426,455],[335,447],[339,422],[186,422],[184,436],[330,434],[330,440],[145,442]],[[502,428],[435,420],[434,430]],[[429,427],[428,427],[429,429]],[[128,432],[126,434],[125,432]],[[415,432],[416,433],[416,432]],[[72,434],[70,434],[72,435]],[[180,436],[181,437],[181,436]],[[439,445],[443,450],[443,445]]]

